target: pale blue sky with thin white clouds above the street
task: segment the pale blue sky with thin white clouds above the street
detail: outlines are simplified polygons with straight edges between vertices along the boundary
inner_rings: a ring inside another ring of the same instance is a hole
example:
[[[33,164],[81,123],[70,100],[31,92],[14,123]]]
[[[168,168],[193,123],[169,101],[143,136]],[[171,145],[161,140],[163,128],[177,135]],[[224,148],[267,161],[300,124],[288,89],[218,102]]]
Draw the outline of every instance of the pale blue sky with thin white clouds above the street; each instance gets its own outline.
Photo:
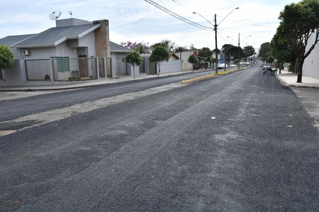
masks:
[[[278,15],[292,0],[152,0],[198,24],[213,27],[214,15],[217,24],[236,7],[218,26],[218,48],[224,44],[247,45],[259,48],[270,42],[279,25]],[[161,11],[145,0],[15,0],[0,4],[0,38],[42,32],[55,27],[49,19],[53,11],[62,11],[59,19],[72,18],[88,21],[109,20],[110,41],[140,42],[150,45],[162,39],[170,39],[178,46],[215,49],[215,32],[189,25]],[[193,14],[197,12],[198,14]],[[256,26],[260,25],[260,26]],[[249,36],[251,35],[251,36]],[[229,38],[227,38],[229,36]],[[249,37],[248,37],[249,36]],[[248,38],[247,38],[248,37]],[[245,39],[247,38],[247,39]],[[245,39],[245,40],[244,40]],[[243,41],[244,40],[244,41]]]

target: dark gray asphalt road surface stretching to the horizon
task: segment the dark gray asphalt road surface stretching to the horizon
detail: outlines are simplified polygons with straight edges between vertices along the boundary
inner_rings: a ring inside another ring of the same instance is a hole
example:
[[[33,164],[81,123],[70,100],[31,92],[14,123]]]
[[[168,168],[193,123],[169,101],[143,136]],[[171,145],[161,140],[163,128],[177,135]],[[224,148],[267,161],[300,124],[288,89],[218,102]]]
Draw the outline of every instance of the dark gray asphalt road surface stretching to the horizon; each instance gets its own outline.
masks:
[[[0,210],[317,211],[315,121],[261,65],[2,101]]]

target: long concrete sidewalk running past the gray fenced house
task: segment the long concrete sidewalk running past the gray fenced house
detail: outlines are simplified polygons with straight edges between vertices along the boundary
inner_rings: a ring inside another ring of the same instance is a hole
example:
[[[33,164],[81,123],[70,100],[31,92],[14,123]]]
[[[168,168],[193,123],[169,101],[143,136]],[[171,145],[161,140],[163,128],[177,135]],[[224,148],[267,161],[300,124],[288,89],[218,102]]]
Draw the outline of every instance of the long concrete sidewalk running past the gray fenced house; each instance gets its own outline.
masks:
[[[158,75],[146,75],[146,76],[139,76],[135,79],[133,77],[125,77],[121,79],[102,79],[102,80],[94,80],[94,81],[79,81],[78,83],[72,84],[61,84],[58,85],[45,85],[45,86],[14,86],[14,87],[0,87],[0,91],[24,91],[24,90],[65,90],[65,89],[75,89],[75,88],[88,88],[88,87],[95,87],[95,86],[102,86],[102,85],[110,85],[115,83],[127,82],[127,81],[139,81],[139,80],[146,80],[152,79],[157,77],[165,77],[165,76],[174,76],[178,74],[189,74],[189,73],[198,73],[198,72],[206,72],[212,71],[212,69],[207,70],[195,70],[194,72],[191,71],[182,71],[182,72],[175,72],[175,73],[168,73],[168,74],[159,74]]]

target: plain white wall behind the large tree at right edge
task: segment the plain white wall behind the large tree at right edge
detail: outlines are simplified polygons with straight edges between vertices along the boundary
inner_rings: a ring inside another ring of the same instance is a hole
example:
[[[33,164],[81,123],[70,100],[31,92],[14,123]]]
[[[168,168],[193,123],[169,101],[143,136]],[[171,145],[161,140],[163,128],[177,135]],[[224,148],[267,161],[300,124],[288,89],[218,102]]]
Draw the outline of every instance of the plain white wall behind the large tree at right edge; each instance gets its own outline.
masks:
[[[314,43],[315,33],[313,33],[312,38],[309,38],[309,43],[306,46],[306,52],[309,50],[310,46]],[[285,66],[286,67],[286,66]],[[297,67],[298,70],[298,67]],[[311,51],[309,56],[305,59],[302,66],[302,75],[312,78],[319,79],[319,46],[315,45],[315,48]]]

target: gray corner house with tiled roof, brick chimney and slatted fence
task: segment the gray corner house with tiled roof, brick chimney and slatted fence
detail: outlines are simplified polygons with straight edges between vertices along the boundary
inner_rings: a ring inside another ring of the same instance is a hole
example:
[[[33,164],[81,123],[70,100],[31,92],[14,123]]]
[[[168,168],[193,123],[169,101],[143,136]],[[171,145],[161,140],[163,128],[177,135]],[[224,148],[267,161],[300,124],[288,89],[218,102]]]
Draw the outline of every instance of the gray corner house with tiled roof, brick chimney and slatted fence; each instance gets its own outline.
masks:
[[[0,86],[111,77],[111,57],[116,75],[130,72],[125,55],[132,50],[109,41],[108,20],[56,20],[56,27],[38,34],[7,36],[0,44],[9,46],[15,59],[13,68],[0,70]]]

